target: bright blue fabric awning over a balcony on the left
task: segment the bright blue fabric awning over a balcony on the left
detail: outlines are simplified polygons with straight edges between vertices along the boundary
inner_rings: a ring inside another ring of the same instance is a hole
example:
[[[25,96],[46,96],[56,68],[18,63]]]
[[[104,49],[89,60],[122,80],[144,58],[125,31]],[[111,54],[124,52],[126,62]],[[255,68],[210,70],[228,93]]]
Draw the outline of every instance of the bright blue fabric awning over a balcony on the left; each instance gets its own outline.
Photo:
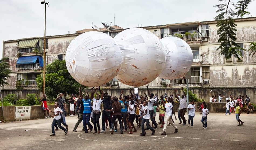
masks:
[[[44,61],[42,56],[23,56],[19,57],[17,61],[17,65],[21,64],[30,64],[30,63],[36,63],[36,61],[39,61],[40,67],[44,66]]]

